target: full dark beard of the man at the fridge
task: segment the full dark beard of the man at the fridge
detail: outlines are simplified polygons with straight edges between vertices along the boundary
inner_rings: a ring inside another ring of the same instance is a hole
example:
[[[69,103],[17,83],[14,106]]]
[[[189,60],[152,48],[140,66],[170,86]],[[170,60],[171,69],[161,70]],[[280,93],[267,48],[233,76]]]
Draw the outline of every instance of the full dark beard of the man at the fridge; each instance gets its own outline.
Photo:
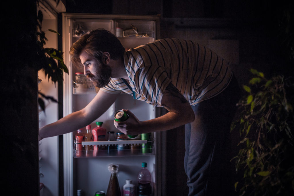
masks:
[[[111,68],[102,63],[98,63],[98,67],[94,70],[94,74],[89,73],[88,78],[91,79],[94,86],[102,88],[110,82]]]

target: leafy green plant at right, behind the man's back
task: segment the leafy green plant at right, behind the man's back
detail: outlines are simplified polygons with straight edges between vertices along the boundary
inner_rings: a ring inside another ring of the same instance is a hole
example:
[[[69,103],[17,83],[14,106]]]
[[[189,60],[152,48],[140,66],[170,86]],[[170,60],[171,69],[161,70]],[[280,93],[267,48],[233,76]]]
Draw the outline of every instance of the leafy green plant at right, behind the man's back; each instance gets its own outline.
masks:
[[[270,80],[255,69],[243,88],[240,119],[231,130],[240,133],[235,160],[243,179],[235,183],[239,195],[294,195],[293,77]]]

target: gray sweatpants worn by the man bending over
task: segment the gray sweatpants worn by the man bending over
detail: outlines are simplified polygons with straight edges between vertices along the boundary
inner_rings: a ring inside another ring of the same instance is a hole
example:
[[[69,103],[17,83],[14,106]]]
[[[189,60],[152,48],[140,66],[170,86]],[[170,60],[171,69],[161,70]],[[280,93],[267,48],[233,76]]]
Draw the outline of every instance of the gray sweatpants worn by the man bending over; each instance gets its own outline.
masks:
[[[217,96],[193,106],[195,120],[185,125],[184,167],[190,195],[231,195],[228,134],[240,98],[235,77]]]

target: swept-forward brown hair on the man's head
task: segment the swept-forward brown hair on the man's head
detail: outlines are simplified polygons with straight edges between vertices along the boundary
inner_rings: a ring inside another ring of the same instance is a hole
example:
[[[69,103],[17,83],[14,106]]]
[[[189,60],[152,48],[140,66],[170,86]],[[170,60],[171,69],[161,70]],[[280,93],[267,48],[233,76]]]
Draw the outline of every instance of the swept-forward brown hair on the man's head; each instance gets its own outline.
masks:
[[[111,59],[118,60],[119,58],[123,58],[125,48],[123,48],[121,42],[111,32],[105,29],[96,29],[81,36],[71,46],[69,54],[75,66],[83,66],[80,60],[80,55],[83,51],[86,51],[96,58],[98,62],[101,62],[103,52],[108,52]]]

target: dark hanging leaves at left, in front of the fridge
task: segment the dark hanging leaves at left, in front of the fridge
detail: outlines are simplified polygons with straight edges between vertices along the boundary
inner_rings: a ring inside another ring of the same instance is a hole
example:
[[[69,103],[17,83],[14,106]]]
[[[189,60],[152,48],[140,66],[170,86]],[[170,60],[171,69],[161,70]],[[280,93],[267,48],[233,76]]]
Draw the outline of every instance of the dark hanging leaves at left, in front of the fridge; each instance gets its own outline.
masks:
[[[63,61],[63,53],[55,48],[46,48],[44,47],[46,45],[46,41],[48,39],[45,37],[45,32],[42,31],[41,24],[43,21],[43,13],[41,10],[38,11],[38,21],[37,21],[37,26],[39,31],[36,32],[36,36],[38,38],[37,40],[37,45],[39,46],[37,49],[38,57],[39,57],[39,67],[38,71],[43,69],[45,71],[45,76],[48,76],[48,81],[51,78],[52,82],[56,85],[56,82],[62,82],[63,80],[63,71],[65,73],[69,73],[66,65],[64,64]],[[58,32],[48,29],[48,31],[57,33],[60,35]],[[49,99],[54,102],[57,102],[56,99],[54,99],[51,96],[46,96],[43,93],[39,92],[39,98],[38,102],[42,110],[45,110],[45,104],[44,100]]]

